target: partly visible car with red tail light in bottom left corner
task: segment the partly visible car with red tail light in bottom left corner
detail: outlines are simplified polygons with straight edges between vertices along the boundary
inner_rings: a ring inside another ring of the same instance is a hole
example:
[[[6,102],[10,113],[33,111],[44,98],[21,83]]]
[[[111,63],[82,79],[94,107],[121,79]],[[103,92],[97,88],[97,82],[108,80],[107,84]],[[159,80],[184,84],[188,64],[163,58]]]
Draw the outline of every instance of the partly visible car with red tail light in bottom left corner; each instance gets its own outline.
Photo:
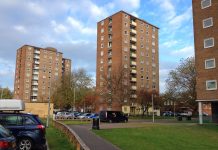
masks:
[[[16,150],[16,138],[0,125],[0,150]]]

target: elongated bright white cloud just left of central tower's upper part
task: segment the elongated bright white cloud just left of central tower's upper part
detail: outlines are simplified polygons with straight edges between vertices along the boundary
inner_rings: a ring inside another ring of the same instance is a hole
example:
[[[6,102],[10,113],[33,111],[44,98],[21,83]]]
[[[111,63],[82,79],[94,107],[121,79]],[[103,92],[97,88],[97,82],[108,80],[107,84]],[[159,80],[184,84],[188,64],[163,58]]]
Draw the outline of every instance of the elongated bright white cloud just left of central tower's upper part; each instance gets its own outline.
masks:
[[[96,28],[85,27],[82,22],[74,19],[73,17],[68,17],[67,22],[71,25],[72,28],[78,30],[82,34],[96,34]]]

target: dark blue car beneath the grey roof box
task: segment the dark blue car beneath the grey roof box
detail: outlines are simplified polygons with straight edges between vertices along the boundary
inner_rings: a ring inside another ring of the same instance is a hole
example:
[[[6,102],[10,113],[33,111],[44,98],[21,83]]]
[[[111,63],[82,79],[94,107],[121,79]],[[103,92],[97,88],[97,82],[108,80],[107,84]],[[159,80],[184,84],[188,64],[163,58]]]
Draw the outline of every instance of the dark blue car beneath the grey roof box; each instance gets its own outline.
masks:
[[[27,113],[0,113],[0,124],[17,139],[19,150],[46,150],[45,126],[37,115]]]

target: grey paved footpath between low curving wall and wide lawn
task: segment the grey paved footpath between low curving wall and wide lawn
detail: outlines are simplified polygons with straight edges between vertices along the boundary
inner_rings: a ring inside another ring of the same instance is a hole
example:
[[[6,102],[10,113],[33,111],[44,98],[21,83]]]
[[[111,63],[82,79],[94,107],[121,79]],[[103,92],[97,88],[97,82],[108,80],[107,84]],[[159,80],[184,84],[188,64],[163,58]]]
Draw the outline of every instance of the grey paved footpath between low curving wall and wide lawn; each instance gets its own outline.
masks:
[[[69,127],[82,139],[90,150],[120,150],[115,145],[90,131],[90,126],[69,125]]]

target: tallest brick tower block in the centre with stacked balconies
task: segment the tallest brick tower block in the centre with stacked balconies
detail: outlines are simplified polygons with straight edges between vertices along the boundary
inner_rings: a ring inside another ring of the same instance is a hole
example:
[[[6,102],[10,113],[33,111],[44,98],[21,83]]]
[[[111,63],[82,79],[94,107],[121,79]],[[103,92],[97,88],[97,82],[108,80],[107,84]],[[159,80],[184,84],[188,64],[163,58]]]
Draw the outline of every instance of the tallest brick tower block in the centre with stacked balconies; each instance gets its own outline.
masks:
[[[158,30],[124,11],[97,23],[96,89],[100,95],[97,110],[122,108],[126,113],[135,113],[140,109],[138,91],[159,92]],[[103,96],[105,89],[113,93],[104,83],[114,76],[122,78],[120,90],[127,93],[119,99],[121,103]]]

